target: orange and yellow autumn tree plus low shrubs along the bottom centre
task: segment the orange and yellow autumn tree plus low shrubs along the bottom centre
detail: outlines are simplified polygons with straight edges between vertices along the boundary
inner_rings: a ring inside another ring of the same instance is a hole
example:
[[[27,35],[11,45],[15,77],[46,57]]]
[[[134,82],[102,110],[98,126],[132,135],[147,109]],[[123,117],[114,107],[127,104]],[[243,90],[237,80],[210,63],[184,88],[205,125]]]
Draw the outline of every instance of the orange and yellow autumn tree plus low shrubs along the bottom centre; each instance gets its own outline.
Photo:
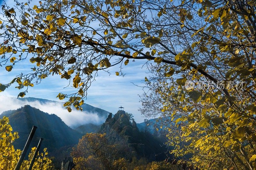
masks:
[[[164,161],[149,162],[146,158],[140,160],[133,157],[131,160],[124,158],[121,143],[110,144],[106,134],[87,133],[73,148],[71,156],[77,170],[170,170],[181,169],[181,166],[172,165]]]

